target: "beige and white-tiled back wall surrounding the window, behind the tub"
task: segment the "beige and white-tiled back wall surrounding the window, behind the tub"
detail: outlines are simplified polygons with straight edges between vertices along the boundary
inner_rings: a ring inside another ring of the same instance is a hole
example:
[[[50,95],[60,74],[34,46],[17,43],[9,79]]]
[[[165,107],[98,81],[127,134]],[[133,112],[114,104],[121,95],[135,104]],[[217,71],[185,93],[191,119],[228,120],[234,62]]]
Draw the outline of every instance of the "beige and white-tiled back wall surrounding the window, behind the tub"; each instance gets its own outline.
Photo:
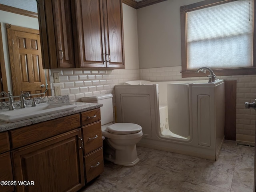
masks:
[[[167,0],[141,8],[137,12],[140,79],[188,80],[181,77],[180,6],[201,0]],[[256,98],[256,75],[221,76],[236,80],[236,140],[254,142],[255,110],[244,102]]]

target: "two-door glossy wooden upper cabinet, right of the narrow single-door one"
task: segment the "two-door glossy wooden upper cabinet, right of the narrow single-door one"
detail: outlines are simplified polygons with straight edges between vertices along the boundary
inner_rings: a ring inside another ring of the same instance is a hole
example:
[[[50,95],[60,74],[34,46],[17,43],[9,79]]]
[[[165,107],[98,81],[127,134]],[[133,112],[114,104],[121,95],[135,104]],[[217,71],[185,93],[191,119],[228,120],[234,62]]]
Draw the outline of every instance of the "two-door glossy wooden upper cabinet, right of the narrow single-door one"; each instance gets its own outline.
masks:
[[[125,68],[122,0],[75,0],[78,67]]]

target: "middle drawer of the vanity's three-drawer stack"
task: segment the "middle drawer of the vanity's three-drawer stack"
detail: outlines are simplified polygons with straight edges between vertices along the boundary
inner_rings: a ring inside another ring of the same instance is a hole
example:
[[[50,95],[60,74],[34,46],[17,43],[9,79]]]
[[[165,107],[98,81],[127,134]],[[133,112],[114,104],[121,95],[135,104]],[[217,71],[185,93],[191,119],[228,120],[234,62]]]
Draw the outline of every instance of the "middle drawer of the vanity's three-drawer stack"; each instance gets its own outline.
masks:
[[[102,147],[101,121],[82,127],[84,139],[84,154]]]

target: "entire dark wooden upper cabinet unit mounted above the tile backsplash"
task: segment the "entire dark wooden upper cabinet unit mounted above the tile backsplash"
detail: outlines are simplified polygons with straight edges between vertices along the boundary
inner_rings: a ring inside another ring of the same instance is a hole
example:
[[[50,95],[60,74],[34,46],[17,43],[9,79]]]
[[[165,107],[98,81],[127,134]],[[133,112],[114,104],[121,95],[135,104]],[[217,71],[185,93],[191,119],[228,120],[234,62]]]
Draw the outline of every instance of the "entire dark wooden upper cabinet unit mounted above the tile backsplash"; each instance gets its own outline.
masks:
[[[45,69],[125,68],[122,0],[38,0]]]

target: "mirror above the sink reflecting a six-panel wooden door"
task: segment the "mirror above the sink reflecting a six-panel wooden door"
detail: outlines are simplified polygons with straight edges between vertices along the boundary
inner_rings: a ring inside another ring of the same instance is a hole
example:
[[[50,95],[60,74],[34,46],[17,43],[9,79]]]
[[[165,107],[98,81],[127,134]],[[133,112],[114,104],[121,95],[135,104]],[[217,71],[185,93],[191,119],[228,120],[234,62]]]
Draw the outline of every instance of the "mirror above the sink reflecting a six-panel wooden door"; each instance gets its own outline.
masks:
[[[14,7],[15,6],[15,7]],[[0,1],[0,38],[2,35],[2,38],[0,40],[0,43],[2,41],[2,49],[0,49],[0,66],[1,66],[1,78],[2,78],[2,86],[0,88],[0,91],[4,90],[7,92],[10,90],[13,96],[20,95],[20,91],[30,92],[31,94],[39,94],[44,93],[45,96],[50,96],[50,79],[49,79],[49,70],[42,70],[42,72],[38,72],[40,69],[37,66],[40,66],[42,68],[42,59],[34,57],[32,58],[32,65],[36,67],[27,67],[26,65],[26,59],[27,56],[23,55],[22,53],[18,53],[18,57],[16,54],[16,51],[10,51],[9,54],[9,48],[10,44],[13,42],[10,42],[10,35],[16,35],[16,32],[13,32],[13,30],[19,30],[20,28],[24,29],[36,29],[38,30],[38,39],[39,38],[39,26],[38,26],[38,17],[37,17],[37,2],[36,0],[1,0]],[[8,25],[10,24],[10,27]],[[19,28],[20,27],[20,28]],[[8,32],[9,30],[9,32]],[[30,33],[32,30],[28,30],[27,32]],[[34,31],[34,30],[33,30]],[[8,36],[9,35],[9,36]],[[17,38],[16,38],[17,39]],[[15,38],[14,38],[15,41]],[[26,39],[18,38],[16,40],[18,43],[18,46],[20,48],[20,45],[24,43],[24,45],[28,42]],[[8,45],[9,43],[9,45]],[[18,47],[17,46],[17,47]],[[34,46],[38,50],[41,49],[40,46],[37,46],[35,43]],[[15,57],[12,57],[11,52],[13,54],[16,54]],[[38,55],[40,55],[39,53]],[[9,57],[10,56],[10,57]],[[32,54],[33,57],[33,54]],[[24,67],[20,67],[20,61],[23,60],[23,63],[25,63]],[[41,61],[40,61],[41,60]],[[39,62],[38,62],[39,61]],[[18,64],[18,65],[17,65]],[[21,69],[19,69],[21,68]],[[33,68],[33,69],[31,69]],[[18,70],[17,70],[18,69]],[[20,73],[20,76],[17,77],[15,72],[18,71]],[[40,74],[37,75],[37,74]],[[33,75],[33,76],[31,76]],[[33,78],[33,82],[35,84],[32,84],[31,79]],[[42,80],[43,79],[43,80]],[[25,83],[24,83],[25,82]],[[36,89],[34,88],[36,86]],[[39,88],[38,88],[39,87]]]

